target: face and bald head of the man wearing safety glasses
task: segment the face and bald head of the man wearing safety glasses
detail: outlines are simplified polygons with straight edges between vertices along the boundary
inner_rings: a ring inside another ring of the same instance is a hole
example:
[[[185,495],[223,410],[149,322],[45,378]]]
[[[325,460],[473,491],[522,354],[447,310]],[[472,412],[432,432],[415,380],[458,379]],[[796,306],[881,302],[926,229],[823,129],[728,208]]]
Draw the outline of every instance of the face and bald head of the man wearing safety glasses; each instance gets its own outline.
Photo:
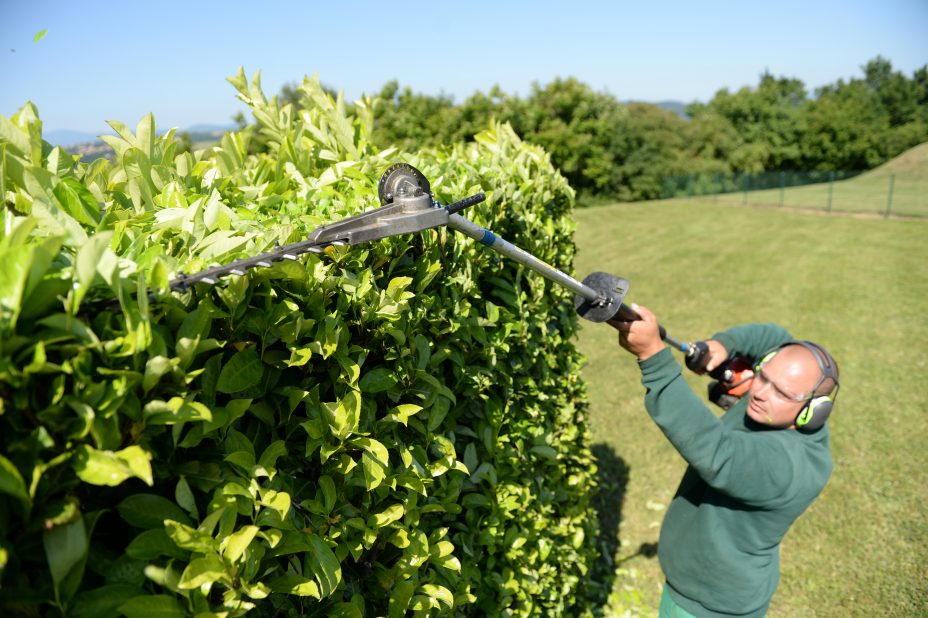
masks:
[[[795,428],[796,415],[821,377],[812,353],[800,346],[783,348],[762,365],[748,391],[747,414],[770,427]]]

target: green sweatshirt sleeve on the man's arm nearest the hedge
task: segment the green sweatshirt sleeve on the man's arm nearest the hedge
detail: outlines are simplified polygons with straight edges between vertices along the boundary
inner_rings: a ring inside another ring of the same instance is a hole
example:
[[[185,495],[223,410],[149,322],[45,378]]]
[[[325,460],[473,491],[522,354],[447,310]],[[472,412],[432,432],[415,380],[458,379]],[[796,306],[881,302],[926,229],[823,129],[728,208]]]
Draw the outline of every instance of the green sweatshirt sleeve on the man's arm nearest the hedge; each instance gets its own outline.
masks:
[[[755,506],[772,506],[788,496],[798,462],[780,432],[725,427],[686,384],[669,349],[640,367],[648,413],[706,483]]]

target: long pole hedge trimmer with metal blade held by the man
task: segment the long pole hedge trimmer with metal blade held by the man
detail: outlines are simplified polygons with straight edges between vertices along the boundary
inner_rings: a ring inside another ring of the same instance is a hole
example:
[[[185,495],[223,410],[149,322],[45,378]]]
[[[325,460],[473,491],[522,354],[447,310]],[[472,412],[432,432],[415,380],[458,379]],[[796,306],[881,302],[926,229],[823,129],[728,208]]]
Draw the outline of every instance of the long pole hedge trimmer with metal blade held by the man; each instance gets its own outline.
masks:
[[[483,193],[441,205],[434,199],[428,179],[407,163],[395,163],[384,171],[377,186],[380,208],[347,217],[314,230],[309,238],[275,247],[259,255],[212,266],[194,274],[180,273],[170,288],[183,291],[196,283],[215,284],[222,277],[244,275],[252,268],[269,267],[281,260],[295,260],[304,253],[320,253],[333,245],[357,245],[400,234],[447,226],[473,238],[490,249],[512,258],[526,268],[573,291],[574,308],[580,317],[592,322],[640,320],[641,316],[623,301],[629,281],[609,273],[594,272],[581,282],[543,262],[527,251],[500,238],[458,213],[486,199]],[[708,361],[704,342],[685,343],[660,327],[661,339],[686,355],[686,365],[702,372]],[[709,387],[710,399],[723,408],[730,407],[750,387],[753,372],[744,359],[731,359],[710,375],[716,379]]]

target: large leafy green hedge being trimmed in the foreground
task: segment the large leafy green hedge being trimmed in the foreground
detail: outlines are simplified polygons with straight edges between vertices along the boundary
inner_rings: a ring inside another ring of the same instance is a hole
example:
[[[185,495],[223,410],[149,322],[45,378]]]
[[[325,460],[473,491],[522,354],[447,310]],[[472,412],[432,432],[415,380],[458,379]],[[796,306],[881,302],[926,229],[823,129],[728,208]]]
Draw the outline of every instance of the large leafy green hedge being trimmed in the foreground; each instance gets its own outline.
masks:
[[[370,99],[229,81],[256,124],[193,153],[149,115],[85,164],[0,116],[0,613],[591,613],[568,292],[446,229],[168,289],[378,206],[400,160],[569,271],[566,181],[508,125],[378,151]]]

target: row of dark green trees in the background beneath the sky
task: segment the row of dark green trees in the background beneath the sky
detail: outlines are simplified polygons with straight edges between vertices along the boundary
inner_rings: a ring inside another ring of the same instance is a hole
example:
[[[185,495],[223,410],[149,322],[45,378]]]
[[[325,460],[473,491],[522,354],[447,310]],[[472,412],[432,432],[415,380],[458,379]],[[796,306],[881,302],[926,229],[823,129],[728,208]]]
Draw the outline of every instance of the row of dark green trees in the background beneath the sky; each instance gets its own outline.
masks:
[[[374,140],[407,150],[468,141],[494,117],[544,147],[587,199],[656,198],[664,178],[688,174],[865,170],[928,141],[928,64],[911,77],[879,56],[861,69],[811,94],[765,72],[755,87],[688,105],[685,117],[573,77],[524,97],[494,86],[461,103],[391,81],[374,97]],[[295,85],[280,98],[300,102]]]

